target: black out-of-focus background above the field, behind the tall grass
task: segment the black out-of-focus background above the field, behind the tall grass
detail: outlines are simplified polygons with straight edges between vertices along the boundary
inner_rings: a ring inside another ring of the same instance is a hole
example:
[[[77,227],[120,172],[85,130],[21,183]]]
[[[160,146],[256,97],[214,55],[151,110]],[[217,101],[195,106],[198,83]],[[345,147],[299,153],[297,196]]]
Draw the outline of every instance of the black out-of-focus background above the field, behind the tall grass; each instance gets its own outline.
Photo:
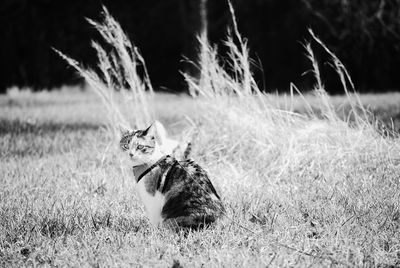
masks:
[[[90,39],[98,38],[85,17],[100,19],[101,5],[120,22],[142,52],[155,88],[184,91],[180,70],[185,54],[193,59],[198,0],[1,0],[0,92],[7,87],[34,89],[81,82],[52,50],[55,47],[86,65],[96,64]],[[301,42],[307,28],[348,67],[357,89],[400,88],[400,0],[236,0],[239,30],[249,40],[260,85],[286,91],[303,89],[313,79]],[[210,41],[221,45],[231,16],[225,0],[207,3]],[[330,93],[341,93],[326,55],[314,46]],[[223,54],[223,49],[221,49]]]

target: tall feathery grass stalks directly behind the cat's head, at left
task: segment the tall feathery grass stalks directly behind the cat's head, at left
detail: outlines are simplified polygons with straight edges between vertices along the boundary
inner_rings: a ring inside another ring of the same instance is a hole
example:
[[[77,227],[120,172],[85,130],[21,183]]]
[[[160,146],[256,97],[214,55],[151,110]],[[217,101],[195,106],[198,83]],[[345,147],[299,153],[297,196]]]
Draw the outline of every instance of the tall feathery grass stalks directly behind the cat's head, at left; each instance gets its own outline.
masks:
[[[119,138],[120,125],[133,129],[145,128],[153,121],[153,110],[149,105],[153,99],[153,87],[138,48],[130,42],[105,7],[102,15],[101,22],[88,19],[102,37],[101,42],[92,41],[98,57],[96,68],[85,68],[62,52],[55,51],[101,98],[108,114],[105,123]],[[127,113],[135,116],[129,117]]]

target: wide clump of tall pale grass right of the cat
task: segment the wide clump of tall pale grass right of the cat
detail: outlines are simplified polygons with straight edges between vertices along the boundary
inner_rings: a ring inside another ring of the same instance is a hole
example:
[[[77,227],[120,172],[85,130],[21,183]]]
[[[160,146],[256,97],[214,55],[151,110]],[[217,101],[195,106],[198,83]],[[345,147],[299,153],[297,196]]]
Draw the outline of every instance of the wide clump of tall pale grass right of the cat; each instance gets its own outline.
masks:
[[[210,138],[223,136],[223,131],[229,133],[229,138],[218,142],[220,151],[232,153],[227,155],[224,152],[224,157],[231,157],[232,161],[243,158],[243,162],[254,169],[268,166],[266,172],[279,170],[280,176],[285,176],[289,170],[296,170],[310,162],[313,165],[318,163],[318,166],[338,162],[335,165],[340,167],[340,162],[356,157],[358,153],[379,154],[385,158],[393,155],[393,146],[398,147],[397,139],[388,140],[379,134],[376,123],[370,120],[354,91],[346,68],[312,31],[312,39],[331,55],[332,65],[350,105],[349,116],[343,119],[336,113],[324,89],[309,43],[305,45],[306,56],[315,76],[313,93],[319,99],[320,107],[317,108],[322,118],[316,116],[309,103],[305,103],[309,107],[309,116],[290,109],[282,110],[281,104],[278,106],[274,102],[274,96],[265,93],[255,82],[247,44],[238,32],[232,7],[231,12],[234,23],[225,42],[228,48],[226,62],[221,63],[217,49],[210,46],[204,37],[200,38],[200,81],[185,76],[191,92],[199,92],[203,97],[198,98],[204,105],[203,118],[216,130]],[[228,74],[226,66],[232,74]],[[298,91],[294,85],[292,88]],[[293,92],[286,107],[293,107]],[[301,95],[301,92],[298,93]],[[221,147],[221,144],[224,146]],[[249,155],[254,158],[249,158]],[[329,157],[328,162],[326,157]]]

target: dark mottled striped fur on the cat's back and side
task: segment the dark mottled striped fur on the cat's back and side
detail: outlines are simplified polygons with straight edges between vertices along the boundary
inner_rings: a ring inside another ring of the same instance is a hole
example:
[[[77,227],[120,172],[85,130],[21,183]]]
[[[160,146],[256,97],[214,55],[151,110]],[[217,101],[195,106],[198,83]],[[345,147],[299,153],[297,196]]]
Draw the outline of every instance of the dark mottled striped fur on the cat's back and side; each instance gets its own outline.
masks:
[[[148,193],[165,197],[160,211],[164,225],[198,228],[223,214],[222,202],[207,173],[191,160],[164,156],[139,176],[141,180]]]

